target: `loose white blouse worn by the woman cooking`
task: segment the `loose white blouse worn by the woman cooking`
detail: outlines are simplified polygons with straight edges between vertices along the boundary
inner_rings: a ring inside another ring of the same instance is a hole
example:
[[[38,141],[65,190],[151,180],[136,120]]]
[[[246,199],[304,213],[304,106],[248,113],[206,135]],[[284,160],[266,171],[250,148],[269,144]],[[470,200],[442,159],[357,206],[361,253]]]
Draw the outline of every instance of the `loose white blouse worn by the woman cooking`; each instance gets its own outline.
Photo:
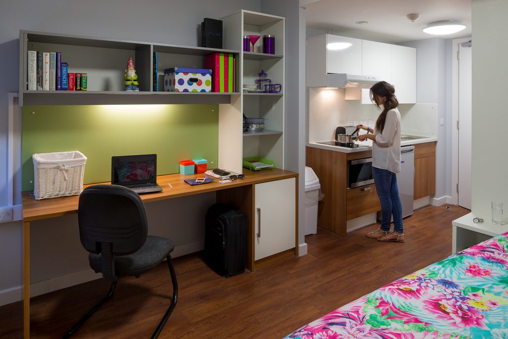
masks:
[[[400,112],[397,108],[388,111],[383,133],[374,129],[372,143],[372,166],[390,172],[400,172]]]

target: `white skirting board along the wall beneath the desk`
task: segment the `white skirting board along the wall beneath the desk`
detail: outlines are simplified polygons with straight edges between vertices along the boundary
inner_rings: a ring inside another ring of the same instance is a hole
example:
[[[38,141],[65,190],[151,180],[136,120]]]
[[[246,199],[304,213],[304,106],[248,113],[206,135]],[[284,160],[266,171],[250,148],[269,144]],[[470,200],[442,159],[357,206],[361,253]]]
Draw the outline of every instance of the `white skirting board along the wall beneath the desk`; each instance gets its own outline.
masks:
[[[306,244],[305,244],[306,245]],[[202,251],[205,248],[205,241],[196,241],[180,246],[175,246],[171,257],[181,257],[190,253]],[[42,282],[30,284],[30,297],[61,290],[70,286],[83,284],[92,280],[102,279],[101,273],[94,272],[91,268],[56,276]],[[16,286],[0,291],[0,306],[22,300],[23,287]]]

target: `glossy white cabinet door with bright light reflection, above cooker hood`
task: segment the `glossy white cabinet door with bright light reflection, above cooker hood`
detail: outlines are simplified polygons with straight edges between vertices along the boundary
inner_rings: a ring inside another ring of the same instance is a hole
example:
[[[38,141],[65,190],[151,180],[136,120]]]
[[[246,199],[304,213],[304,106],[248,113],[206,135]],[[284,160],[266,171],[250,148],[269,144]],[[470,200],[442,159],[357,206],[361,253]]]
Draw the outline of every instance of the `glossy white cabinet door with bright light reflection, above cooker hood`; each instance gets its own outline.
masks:
[[[327,53],[327,73],[362,74],[361,39],[327,34],[324,47]]]

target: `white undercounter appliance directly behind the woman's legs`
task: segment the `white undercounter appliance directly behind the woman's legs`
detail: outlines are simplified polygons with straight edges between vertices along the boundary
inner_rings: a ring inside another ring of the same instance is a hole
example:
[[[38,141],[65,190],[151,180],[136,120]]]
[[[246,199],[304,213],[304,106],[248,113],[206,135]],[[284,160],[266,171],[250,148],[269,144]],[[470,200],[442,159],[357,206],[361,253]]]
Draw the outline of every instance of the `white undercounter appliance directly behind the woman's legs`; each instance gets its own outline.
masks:
[[[402,218],[413,212],[413,196],[415,192],[415,146],[400,147],[400,173],[397,174],[397,186],[399,188],[400,202],[402,204]],[[383,214],[378,211],[377,220],[381,220]],[[393,222],[393,215],[392,220]]]

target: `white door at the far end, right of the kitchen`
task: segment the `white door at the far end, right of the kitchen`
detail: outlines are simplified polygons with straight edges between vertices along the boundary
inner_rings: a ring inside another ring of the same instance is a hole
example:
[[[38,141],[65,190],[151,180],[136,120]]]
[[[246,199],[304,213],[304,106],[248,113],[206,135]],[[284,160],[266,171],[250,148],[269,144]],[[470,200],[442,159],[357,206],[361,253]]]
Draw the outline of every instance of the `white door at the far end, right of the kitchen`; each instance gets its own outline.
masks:
[[[458,205],[471,209],[471,43],[459,44]]]

